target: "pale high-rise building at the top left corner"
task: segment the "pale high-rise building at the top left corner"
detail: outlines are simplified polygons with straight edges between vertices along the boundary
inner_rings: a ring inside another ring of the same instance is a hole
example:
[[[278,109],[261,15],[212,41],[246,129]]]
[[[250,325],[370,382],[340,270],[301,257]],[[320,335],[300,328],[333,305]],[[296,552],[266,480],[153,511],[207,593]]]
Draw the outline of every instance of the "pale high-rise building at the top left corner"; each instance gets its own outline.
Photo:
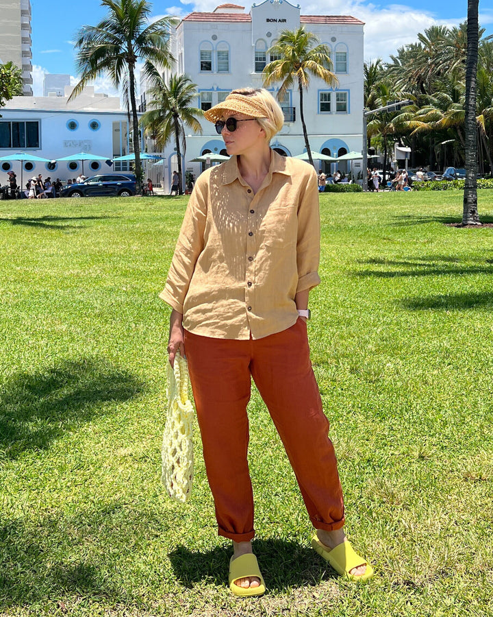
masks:
[[[3,0],[0,20],[0,60],[22,70],[23,95],[32,96],[31,3]]]

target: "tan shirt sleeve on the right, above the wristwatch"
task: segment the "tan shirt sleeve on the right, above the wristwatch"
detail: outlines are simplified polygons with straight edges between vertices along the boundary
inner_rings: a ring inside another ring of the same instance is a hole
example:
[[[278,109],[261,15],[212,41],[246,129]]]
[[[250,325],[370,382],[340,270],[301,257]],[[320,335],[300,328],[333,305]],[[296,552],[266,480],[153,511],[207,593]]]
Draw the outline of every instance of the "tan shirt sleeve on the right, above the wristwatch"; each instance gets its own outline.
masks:
[[[320,209],[316,171],[307,178],[305,191],[298,207],[298,238],[296,243],[298,286],[296,293],[313,289],[320,283]]]

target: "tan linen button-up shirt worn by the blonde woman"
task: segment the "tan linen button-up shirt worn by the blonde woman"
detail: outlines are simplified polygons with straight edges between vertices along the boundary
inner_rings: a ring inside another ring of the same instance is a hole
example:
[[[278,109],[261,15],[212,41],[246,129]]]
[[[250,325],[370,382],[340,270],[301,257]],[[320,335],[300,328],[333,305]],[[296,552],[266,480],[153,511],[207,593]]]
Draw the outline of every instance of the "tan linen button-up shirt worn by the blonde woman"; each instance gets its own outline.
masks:
[[[199,176],[160,298],[184,328],[222,339],[261,339],[298,318],[294,296],[320,282],[314,168],[271,150],[256,195],[236,156]]]

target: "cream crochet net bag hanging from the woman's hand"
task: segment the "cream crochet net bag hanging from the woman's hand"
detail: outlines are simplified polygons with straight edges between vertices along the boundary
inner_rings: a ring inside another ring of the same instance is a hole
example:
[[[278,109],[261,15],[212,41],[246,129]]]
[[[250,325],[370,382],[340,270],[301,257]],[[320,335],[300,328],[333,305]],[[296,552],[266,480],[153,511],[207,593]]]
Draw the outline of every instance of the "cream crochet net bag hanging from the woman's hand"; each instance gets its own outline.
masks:
[[[162,444],[161,481],[168,495],[184,503],[192,492],[193,480],[193,416],[188,398],[188,366],[179,353],[175,367],[167,365],[166,424]]]

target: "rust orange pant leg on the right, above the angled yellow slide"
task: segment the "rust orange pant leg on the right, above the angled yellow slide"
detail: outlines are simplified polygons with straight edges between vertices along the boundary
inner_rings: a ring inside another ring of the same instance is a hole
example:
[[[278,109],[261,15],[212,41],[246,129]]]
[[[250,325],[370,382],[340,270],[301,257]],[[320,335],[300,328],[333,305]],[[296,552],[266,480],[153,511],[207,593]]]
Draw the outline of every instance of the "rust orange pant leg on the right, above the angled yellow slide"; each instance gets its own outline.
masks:
[[[344,500],[329,421],[309,360],[306,324],[253,341],[251,372],[281,437],[312,524],[344,525]]]

